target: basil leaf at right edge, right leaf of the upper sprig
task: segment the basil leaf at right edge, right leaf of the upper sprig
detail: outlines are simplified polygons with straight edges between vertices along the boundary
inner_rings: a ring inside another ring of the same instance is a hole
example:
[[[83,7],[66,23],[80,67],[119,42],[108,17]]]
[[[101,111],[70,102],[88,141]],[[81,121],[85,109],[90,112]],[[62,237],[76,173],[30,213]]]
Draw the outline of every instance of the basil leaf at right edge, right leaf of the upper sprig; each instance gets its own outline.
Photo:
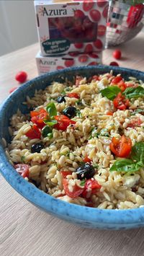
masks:
[[[135,88],[129,87],[129,88],[125,89],[123,94],[128,99],[131,99],[131,98],[136,99],[136,98],[139,98],[139,97],[144,97],[144,88],[143,87],[135,87]]]

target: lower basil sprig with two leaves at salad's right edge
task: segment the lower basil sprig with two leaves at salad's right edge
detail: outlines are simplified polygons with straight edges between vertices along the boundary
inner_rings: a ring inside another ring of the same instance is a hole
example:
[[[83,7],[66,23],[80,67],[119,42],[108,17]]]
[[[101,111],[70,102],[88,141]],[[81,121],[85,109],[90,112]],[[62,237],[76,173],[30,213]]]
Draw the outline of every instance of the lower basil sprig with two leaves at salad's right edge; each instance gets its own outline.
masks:
[[[144,167],[144,142],[132,146],[130,159],[119,159],[110,168],[110,172],[137,172]]]

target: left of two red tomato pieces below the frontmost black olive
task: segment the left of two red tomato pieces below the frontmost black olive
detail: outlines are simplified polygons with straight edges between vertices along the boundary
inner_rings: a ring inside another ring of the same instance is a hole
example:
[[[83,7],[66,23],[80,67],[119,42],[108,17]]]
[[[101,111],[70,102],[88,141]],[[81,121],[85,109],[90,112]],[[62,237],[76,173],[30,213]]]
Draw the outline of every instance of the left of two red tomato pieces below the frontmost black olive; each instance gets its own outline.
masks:
[[[68,188],[68,180],[66,179],[63,179],[63,189],[70,198],[77,198],[84,191],[84,187],[78,187],[78,185],[74,185],[73,191],[70,191]]]

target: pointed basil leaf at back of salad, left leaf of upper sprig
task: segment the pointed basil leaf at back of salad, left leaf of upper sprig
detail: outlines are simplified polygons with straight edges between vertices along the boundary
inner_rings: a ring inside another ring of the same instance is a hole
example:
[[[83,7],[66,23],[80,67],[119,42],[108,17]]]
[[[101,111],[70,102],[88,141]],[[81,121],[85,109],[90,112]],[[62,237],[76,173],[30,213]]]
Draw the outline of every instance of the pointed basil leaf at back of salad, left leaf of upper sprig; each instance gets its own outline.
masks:
[[[117,94],[121,92],[121,89],[117,86],[112,86],[102,89],[100,92],[102,93],[103,97],[107,97],[109,100],[114,100]]]

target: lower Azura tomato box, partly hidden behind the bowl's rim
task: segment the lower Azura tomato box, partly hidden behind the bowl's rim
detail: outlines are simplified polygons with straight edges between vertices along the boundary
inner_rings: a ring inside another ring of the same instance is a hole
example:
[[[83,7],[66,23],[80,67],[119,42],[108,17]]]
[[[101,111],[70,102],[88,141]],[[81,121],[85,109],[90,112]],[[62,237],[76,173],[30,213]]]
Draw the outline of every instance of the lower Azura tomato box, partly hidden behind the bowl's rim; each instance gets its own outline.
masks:
[[[72,66],[94,66],[102,63],[102,53],[69,53],[63,56],[42,56],[37,53],[38,74],[45,74],[50,71],[66,69]]]

